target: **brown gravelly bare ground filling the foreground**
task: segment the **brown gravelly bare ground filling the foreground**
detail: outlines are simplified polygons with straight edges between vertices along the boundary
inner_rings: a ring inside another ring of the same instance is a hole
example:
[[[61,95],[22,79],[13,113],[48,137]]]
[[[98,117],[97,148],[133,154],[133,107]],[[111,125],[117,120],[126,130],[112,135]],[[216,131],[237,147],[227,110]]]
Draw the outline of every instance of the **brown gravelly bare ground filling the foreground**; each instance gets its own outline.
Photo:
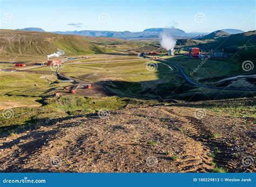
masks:
[[[212,172],[217,166],[255,171],[255,164],[242,164],[255,159],[255,119],[195,112],[185,106],[129,104],[106,119],[91,114],[2,135],[1,170]]]

